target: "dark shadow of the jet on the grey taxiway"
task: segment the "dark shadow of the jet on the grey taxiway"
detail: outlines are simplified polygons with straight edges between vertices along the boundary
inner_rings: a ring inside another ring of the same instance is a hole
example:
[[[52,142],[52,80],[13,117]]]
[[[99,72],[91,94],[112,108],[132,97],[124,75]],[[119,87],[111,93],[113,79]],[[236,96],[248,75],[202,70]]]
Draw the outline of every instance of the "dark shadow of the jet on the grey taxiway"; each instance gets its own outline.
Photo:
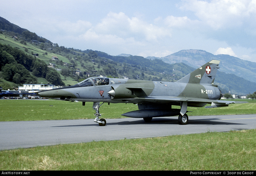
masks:
[[[246,125],[241,123],[230,123],[230,122],[224,122],[224,121],[215,121],[215,120],[221,120],[220,118],[206,118],[206,119],[192,119],[189,120],[188,125]],[[145,122],[143,119],[135,120],[135,121],[122,121],[122,122],[111,122],[106,123],[105,126],[108,125],[155,125],[155,124],[170,124],[178,125],[177,119],[172,118],[153,118],[151,122]],[[99,126],[98,124],[92,123],[92,124],[80,124],[80,125],[64,125],[64,126],[52,126],[52,127],[77,127],[77,126]],[[100,126],[99,126],[100,127]]]

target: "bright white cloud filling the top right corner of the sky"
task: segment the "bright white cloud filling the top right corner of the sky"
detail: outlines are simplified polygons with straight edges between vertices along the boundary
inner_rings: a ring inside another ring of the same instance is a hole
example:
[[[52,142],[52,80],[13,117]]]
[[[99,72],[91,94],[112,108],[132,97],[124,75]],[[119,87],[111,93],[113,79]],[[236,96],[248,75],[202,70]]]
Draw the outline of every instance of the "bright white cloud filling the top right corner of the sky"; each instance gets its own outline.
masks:
[[[249,0],[192,0],[184,1],[181,8],[194,12],[199,20],[215,30],[240,27],[244,19],[250,19],[256,13],[255,1]],[[253,24],[254,21],[249,23]]]

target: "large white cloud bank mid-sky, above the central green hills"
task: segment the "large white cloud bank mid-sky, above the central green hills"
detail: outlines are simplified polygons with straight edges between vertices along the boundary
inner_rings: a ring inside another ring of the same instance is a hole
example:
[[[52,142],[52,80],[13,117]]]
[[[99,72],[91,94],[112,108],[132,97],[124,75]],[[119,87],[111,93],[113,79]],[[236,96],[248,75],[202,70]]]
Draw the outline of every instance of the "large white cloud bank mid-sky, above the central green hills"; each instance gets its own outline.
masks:
[[[76,25],[77,23],[73,26]],[[76,41],[74,43],[83,43],[80,45],[84,46],[90,45],[90,49],[95,48],[95,50],[101,50],[111,55],[128,53],[144,57],[164,57],[161,53],[169,54],[170,52],[167,52],[168,49],[166,48],[160,49],[159,43],[163,44],[166,38],[170,37],[171,33],[168,28],[149,24],[138,17],[128,17],[123,12],[110,12],[100,23],[91,26],[79,37],[75,36],[74,40]]]

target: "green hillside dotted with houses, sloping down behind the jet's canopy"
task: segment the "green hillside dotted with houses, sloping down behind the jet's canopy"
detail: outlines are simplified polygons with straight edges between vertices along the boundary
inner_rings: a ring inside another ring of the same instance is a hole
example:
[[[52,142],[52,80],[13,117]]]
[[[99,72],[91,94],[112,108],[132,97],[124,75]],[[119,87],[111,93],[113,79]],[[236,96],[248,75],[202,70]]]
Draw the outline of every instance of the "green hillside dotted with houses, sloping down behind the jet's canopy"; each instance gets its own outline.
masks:
[[[131,78],[141,80],[156,80],[156,81],[176,81],[189,72],[193,71],[193,68],[187,68],[185,64],[166,64],[162,61],[157,61],[151,64],[150,61],[143,57],[130,56],[111,58],[105,58],[98,56],[97,52],[92,50],[74,50],[73,48],[65,48],[52,46],[47,43],[32,43],[24,41],[22,36],[17,36],[19,39],[13,39],[9,33],[0,34],[0,42],[3,45],[9,45],[13,48],[17,48],[26,54],[38,54],[38,59],[44,61],[47,65],[54,63],[57,66],[55,69],[61,73],[61,80],[65,85],[74,85],[82,79],[88,78],[87,74],[78,76],[74,74],[75,70],[80,70],[82,73],[89,73],[89,77],[96,75],[112,76],[116,78]],[[51,48],[49,50],[49,48]],[[103,53],[103,52],[101,52]],[[107,54],[104,53],[106,56]],[[58,57],[58,61],[52,60],[52,56]],[[136,64],[133,62],[136,61]],[[66,62],[69,65],[74,65],[75,68],[65,66]],[[152,62],[152,61],[151,61]],[[146,67],[146,66],[147,67]],[[186,67],[183,71],[179,71],[182,67]],[[61,70],[67,69],[68,73],[65,75]],[[96,71],[96,72],[95,72]],[[37,78],[38,83],[47,83],[46,79]]]

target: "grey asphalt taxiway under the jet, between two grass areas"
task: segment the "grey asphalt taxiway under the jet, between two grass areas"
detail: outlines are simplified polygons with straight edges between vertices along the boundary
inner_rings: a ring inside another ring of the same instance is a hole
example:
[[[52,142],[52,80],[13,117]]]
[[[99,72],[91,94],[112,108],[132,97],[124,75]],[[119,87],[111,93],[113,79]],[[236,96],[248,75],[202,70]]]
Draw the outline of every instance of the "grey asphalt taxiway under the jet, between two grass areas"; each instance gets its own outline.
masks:
[[[256,128],[256,114],[189,116],[188,125],[179,125],[178,117],[153,118],[150,123],[137,118],[106,119],[105,126],[93,120],[0,122],[0,150]]]

